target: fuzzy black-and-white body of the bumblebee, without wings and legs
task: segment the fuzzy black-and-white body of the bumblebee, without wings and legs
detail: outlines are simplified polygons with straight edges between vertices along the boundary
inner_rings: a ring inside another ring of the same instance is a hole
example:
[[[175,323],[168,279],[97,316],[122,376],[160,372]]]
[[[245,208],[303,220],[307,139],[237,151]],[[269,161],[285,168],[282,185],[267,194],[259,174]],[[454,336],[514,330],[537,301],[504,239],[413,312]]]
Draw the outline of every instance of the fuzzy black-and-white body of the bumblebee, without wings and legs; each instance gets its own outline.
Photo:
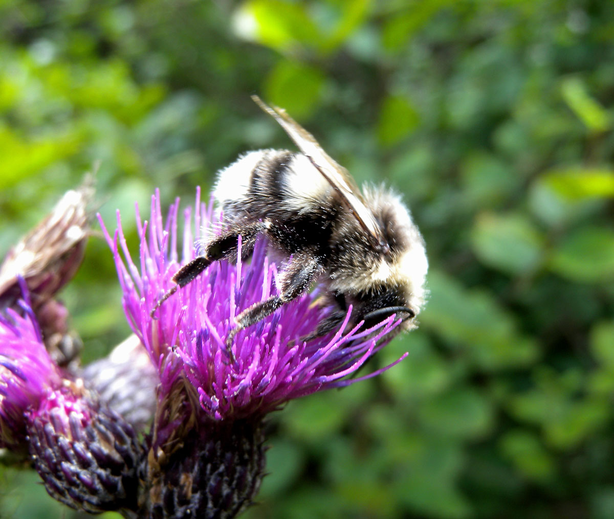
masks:
[[[386,242],[373,247],[351,208],[303,153],[258,150],[222,169],[214,191],[222,234],[262,221],[275,255],[307,254],[319,265],[313,282],[356,308],[355,321],[383,306],[417,315],[426,298],[424,240],[400,196],[385,186],[358,193]],[[281,279],[287,280],[281,272]],[[311,285],[311,283],[309,283]],[[332,298],[328,298],[333,301]],[[407,323],[408,327],[410,323]]]

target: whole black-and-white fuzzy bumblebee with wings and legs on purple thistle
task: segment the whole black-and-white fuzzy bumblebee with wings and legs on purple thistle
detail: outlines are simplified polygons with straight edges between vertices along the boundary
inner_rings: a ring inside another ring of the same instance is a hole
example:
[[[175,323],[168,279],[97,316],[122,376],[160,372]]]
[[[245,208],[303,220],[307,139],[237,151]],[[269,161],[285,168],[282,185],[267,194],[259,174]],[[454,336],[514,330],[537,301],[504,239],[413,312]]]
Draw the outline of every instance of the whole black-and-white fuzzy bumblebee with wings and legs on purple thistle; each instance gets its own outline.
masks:
[[[213,261],[236,258],[239,236],[247,258],[264,235],[286,260],[279,293],[239,313],[228,345],[238,331],[314,283],[324,288],[325,304],[336,310],[311,338],[340,325],[350,305],[350,324],[364,321],[369,327],[394,313],[403,318],[394,333],[415,327],[425,302],[428,261],[424,239],[400,196],[383,186],[360,191],[348,171],[285,110],[253,99],[300,151],[249,152],[219,172],[214,196],[223,210],[221,232],[204,242],[201,256],[177,271],[176,286],[156,308]]]

